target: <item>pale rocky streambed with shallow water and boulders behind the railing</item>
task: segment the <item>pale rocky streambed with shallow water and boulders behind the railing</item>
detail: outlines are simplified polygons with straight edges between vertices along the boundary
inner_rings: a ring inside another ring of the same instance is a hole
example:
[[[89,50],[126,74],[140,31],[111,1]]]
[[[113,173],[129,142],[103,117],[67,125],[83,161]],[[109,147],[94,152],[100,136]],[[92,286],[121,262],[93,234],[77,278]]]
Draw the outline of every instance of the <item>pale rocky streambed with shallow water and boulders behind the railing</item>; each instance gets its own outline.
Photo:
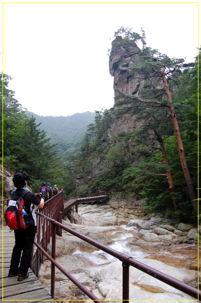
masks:
[[[160,217],[144,217],[139,204],[111,199],[102,205],[79,205],[63,224],[193,287],[198,285],[197,229]],[[147,220],[145,220],[147,219]],[[177,228],[176,228],[177,227]],[[51,243],[49,244],[51,251]],[[56,236],[56,261],[101,300],[122,300],[121,262],[63,231]],[[40,281],[50,292],[51,264],[45,260]],[[137,300],[194,300],[191,296],[129,267],[129,297]],[[55,269],[55,299],[89,298]]]

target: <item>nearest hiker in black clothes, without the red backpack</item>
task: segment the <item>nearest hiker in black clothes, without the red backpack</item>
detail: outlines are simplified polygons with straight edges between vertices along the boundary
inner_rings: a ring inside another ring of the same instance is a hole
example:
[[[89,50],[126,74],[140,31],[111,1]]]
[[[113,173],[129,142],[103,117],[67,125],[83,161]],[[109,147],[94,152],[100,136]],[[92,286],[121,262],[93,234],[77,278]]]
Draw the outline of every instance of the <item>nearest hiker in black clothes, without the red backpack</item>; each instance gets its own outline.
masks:
[[[39,200],[33,192],[26,190],[27,183],[30,180],[29,175],[22,170],[18,171],[13,177],[13,182],[17,189],[12,192],[12,198],[19,198],[23,193],[25,211],[30,218],[30,225],[28,227],[14,230],[15,246],[13,248],[8,276],[14,277],[18,275],[18,281],[23,281],[29,276],[28,269],[30,267],[32,247],[37,227],[34,205],[38,208],[43,208],[44,206],[44,196],[42,194]],[[24,191],[27,191],[27,193],[24,194]],[[20,267],[18,268],[19,264]]]

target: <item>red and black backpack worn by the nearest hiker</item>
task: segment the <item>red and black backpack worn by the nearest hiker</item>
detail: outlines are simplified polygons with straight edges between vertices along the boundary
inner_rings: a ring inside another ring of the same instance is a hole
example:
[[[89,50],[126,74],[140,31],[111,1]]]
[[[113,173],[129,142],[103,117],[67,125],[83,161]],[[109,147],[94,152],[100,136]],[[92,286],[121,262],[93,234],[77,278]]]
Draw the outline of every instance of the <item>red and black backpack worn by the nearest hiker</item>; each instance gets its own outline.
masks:
[[[9,201],[7,210],[5,212],[6,224],[11,229],[25,229],[31,224],[30,218],[25,212],[23,200],[23,197],[28,192],[28,190],[23,190],[20,195],[16,195],[16,192],[11,194],[11,200]]]

